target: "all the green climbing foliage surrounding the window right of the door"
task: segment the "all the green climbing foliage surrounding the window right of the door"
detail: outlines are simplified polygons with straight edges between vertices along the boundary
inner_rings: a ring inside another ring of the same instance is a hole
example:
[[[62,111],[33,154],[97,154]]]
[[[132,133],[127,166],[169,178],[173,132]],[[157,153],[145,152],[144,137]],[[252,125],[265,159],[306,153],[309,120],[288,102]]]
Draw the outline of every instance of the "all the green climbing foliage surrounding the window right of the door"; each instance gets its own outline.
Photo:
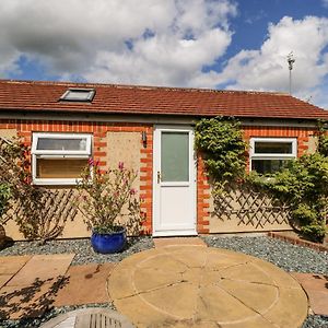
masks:
[[[318,148],[289,161],[271,175],[246,175],[246,143],[241,124],[234,118],[215,117],[196,124],[196,149],[201,152],[212,179],[213,197],[222,195],[226,183],[242,181],[260,192],[271,194],[288,203],[291,224],[313,241],[323,241],[328,215],[327,122],[319,122]]]

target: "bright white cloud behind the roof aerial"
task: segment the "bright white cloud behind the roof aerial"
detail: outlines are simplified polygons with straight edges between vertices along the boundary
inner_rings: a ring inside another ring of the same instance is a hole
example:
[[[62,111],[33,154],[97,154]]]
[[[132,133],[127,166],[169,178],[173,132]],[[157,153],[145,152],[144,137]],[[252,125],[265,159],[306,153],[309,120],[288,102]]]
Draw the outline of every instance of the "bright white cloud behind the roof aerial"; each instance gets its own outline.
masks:
[[[268,38],[258,50],[242,50],[231,58],[221,73],[201,75],[203,84],[225,83],[229,89],[289,91],[286,56],[296,59],[292,90],[301,98],[324,98],[323,81],[328,78],[328,19],[283,17],[270,24]],[[327,96],[326,96],[327,99]],[[327,101],[326,101],[327,102]],[[328,107],[328,104],[320,102]]]

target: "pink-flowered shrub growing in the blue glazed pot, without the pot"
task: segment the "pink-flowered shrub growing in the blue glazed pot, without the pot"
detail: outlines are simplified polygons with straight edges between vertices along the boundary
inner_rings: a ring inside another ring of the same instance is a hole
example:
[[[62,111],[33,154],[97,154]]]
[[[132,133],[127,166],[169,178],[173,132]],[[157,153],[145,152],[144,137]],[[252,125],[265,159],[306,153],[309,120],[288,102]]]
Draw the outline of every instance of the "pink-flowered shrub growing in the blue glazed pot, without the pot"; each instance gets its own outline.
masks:
[[[93,160],[82,172],[78,184],[78,208],[89,229],[96,233],[112,233],[125,225],[131,233],[139,233],[143,220],[140,199],[132,187],[137,172],[124,167],[102,172]]]

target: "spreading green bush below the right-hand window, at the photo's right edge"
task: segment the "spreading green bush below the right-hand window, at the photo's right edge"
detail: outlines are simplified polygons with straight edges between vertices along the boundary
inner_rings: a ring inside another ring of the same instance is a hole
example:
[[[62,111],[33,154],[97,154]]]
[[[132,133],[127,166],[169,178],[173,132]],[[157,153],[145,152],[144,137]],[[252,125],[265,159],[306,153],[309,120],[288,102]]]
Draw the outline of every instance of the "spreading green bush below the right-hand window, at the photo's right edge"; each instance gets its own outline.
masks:
[[[305,154],[290,161],[281,172],[262,178],[253,174],[249,178],[290,206],[294,227],[298,226],[315,242],[324,239],[328,207],[328,157],[319,153]]]

